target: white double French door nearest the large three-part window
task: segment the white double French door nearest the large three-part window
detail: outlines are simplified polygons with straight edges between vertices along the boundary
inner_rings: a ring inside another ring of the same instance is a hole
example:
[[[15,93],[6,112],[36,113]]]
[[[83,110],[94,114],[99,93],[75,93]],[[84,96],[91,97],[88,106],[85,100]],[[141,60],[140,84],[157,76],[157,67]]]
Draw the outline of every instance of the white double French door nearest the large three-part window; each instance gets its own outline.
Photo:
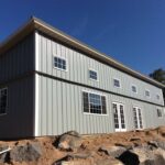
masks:
[[[112,107],[116,132],[127,131],[124,119],[124,106],[118,102],[113,102]]]

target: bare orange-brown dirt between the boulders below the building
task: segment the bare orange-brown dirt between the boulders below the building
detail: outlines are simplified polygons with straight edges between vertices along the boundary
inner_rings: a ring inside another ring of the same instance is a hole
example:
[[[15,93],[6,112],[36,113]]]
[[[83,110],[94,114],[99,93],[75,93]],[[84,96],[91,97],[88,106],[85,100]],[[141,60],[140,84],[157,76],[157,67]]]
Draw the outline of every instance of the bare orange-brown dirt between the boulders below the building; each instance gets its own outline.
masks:
[[[8,144],[11,148],[15,145],[26,144],[38,142],[42,146],[42,156],[37,162],[11,162],[12,165],[52,165],[57,160],[63,158],[69,152],[61,151],[56,148],[53,144],[56,136],[44,136],[36,138],[31,140],[20,140],[20,141],[0,141],[1,144]],[[165,127],[160,127],[157,129],[150,129],[143,131],[130,131],[130,132],[119,132],[119,133],[109,133],[109,134],[92,134],[92,135],[82,135],[82,144],[78,148],[78,153],[91,153],[92,160],[88,158],[87,162],[92,164],[94,160],[108,158],[105,153],[99,152],[100,146],[135,146],[143,145],[152,140],[165,141]],[[82,161],[81,161],[82,162]]]

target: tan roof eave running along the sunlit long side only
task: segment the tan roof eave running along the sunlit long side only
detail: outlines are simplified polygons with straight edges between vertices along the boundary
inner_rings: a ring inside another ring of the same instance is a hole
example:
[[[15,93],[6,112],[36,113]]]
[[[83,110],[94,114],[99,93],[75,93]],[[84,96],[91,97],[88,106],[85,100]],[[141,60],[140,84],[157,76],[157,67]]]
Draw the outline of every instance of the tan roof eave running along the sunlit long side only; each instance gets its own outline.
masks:
[[[107,55],[96,51],[95,48],[87,46],[86,44],[73,38],[72,36],[68,36],[67,34],[61,32],[59,30],[56,30],[55,28],[51,26],[50,24],[47,24],[38,19],[34,19],[34,23],[35,23],[35,28],[37,30],[48,34],[52,37],[55,37],[55,38],[62,41],[63,43],[69,44],[82,52],[86,52],[87,54],[90,54],[92,57],[97,57],[100,61],[108,63],[109,65],[117,67],[120,70],[123,70],[132,76],[139,77],[144,81],[147,81],[147,82],[158,86],[161,88],[165,88],[165,86],[163,84],[124,66],[123,64],[112,59],[111,57],[108,57]]]

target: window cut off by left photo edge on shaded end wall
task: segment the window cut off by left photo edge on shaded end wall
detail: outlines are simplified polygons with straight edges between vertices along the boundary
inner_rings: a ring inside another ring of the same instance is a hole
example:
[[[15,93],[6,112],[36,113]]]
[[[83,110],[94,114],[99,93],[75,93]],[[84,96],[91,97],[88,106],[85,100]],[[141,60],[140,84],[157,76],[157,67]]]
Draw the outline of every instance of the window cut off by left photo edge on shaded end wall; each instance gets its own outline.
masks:
[[[0,89],[0,114],[6,114],[8,108],[8,89]]]

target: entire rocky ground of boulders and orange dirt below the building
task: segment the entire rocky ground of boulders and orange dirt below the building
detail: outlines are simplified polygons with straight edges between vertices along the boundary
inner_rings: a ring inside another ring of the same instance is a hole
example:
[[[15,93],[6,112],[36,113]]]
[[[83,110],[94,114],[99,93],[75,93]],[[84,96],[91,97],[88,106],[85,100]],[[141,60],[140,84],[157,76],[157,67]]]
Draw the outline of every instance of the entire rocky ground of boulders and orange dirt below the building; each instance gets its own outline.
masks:
[[[59,136],[0,142],[1,164],[165,165],[165,127],[98,135],[69,131]]]

